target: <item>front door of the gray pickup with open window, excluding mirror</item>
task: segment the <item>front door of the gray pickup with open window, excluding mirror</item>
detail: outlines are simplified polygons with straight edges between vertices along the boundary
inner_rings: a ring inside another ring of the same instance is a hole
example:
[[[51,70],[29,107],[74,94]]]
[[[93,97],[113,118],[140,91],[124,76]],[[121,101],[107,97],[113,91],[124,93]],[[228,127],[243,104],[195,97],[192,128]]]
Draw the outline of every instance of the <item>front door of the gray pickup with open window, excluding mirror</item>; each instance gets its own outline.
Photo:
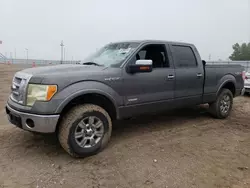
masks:
[[[128,64],[139,59],[151,59],[153,71],[130,74],[124,69],[124,104],[130,115],[165,109],[173,101],[175,71],[167,54],[165,44],[145,45]]]

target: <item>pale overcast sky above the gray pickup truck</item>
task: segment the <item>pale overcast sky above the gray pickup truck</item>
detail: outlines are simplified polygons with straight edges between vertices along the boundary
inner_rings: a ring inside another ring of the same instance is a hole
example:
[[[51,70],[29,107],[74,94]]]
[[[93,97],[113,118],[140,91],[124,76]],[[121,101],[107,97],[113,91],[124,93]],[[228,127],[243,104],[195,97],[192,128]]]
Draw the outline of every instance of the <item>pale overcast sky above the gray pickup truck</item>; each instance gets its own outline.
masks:
[[[0,0],[0,52],[83,59],[112,41],[194,43],[203,59],[227,59],[250,40],[250,0]]]

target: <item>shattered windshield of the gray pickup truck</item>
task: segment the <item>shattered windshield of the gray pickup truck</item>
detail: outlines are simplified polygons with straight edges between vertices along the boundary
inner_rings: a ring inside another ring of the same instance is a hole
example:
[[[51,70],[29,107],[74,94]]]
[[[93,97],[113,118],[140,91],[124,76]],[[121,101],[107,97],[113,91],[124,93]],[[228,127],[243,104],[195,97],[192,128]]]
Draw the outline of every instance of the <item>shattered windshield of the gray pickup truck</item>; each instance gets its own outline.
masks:
[[[124,60],[136,49],[139,43],[112,43],[102,47],[83,63],[93,62],[105,67],[120,67]]]

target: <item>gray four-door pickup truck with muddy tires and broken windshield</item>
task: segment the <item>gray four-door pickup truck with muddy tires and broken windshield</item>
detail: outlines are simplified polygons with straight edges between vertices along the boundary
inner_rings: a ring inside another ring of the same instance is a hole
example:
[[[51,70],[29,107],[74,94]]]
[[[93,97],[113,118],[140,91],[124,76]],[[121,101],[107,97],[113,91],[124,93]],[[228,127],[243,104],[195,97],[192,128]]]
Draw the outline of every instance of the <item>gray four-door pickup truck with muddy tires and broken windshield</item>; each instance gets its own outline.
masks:
[[[58,135],[72,156],[101,151],[112,122],[208,103],[226,118],[243,87],[240,65],[208,65],[192,44],[110,43],[78,65],[25,69],[13,78],[6,113],[17,127]]]

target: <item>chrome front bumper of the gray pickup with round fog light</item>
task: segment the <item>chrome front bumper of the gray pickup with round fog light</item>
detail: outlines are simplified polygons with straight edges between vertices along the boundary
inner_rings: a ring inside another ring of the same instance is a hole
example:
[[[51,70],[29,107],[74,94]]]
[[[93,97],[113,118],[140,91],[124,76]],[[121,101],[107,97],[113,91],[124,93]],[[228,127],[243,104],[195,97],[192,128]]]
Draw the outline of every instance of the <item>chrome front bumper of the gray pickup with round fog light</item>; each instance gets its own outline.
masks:
[[[9,105],[6,105],[6,113],[10,123],[15,126],[32,132],[53,133],[56,130],[56,125],[59,115],[37,115],[24,113],[14,110]]]

